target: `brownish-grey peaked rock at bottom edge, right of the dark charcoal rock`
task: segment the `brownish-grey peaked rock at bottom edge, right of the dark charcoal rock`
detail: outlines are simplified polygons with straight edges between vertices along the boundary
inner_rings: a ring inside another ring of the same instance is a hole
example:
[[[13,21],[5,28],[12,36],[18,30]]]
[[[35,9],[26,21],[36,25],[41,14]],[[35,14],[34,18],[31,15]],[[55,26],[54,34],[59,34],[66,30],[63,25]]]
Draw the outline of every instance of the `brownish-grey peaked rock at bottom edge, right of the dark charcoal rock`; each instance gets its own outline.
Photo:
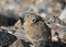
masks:
[[[30,45],[22,39],[18,39],[10,47],[30,47]]]

